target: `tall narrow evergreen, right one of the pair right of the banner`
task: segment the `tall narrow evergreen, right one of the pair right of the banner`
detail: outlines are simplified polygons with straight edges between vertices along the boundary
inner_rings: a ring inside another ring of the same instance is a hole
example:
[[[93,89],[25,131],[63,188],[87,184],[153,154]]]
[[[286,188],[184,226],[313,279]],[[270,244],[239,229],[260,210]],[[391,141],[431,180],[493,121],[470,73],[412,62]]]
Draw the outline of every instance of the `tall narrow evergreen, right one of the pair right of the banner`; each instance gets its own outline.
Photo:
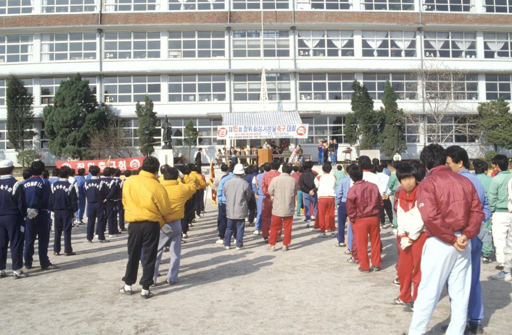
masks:
[[[396,93],[391,83],[387,80],[384,86],[380,112],[383,115],[383,129],[381,132],[382,151],[388,157],[393,157],[395,152],[402,153],[407,150],[404,133],[403,110],[398,108]]]

